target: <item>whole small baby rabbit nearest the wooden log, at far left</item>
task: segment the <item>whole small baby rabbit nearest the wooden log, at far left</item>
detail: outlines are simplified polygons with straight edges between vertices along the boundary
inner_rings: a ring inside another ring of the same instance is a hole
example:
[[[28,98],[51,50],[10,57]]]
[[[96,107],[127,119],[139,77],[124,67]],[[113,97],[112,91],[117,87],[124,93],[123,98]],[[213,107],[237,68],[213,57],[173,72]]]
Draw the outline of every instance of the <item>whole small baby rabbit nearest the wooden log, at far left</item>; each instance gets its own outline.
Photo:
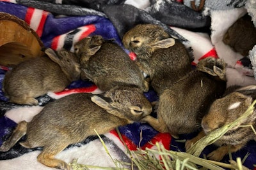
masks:
[[[59,92],[80,78],[79,60],[66,50],[45,49],[48,57],[35,57],[21,62],[8,71],[3,80],[3,91],[10,102],[38,105],[35,97],[49,91]]]

